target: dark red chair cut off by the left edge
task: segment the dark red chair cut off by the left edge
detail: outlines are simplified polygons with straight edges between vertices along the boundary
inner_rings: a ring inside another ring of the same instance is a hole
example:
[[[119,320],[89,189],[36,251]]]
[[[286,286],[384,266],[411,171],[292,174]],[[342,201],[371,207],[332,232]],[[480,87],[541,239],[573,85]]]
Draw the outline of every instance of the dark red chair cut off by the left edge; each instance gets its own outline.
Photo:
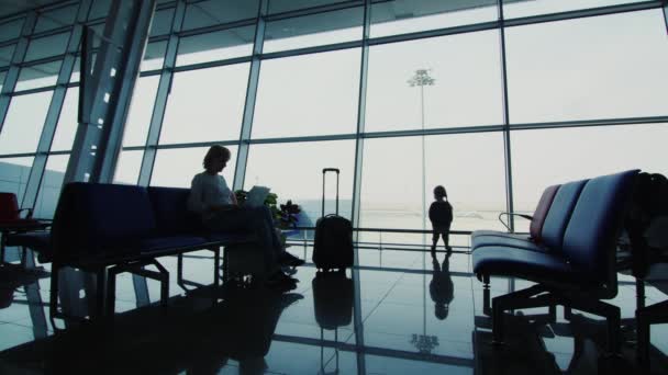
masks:
[[[26,212],[25,217],[21,217],[21,213]],[[32,208],[19,208],[19,202],[14,193],[0,193],[0,234],[2,239],[0,242],[0,263],[4,263],[4,250],[7,246],[22,246],[24,243],[14,237],[25,236],[25,232],[44,229],[48,224],[41,223],[32,218]],[[23,249],[22,264],[25,264],[25,249]]]

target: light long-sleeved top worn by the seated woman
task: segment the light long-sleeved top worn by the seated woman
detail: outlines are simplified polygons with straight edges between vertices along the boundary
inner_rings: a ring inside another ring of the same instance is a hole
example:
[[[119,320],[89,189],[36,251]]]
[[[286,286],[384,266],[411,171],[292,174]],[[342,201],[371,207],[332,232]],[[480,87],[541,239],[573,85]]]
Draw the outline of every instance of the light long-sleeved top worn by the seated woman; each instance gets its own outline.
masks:
[[[232,191],[225,179],[220,174],[201,172],[192,178],[188,209],[207,216],[212,206],[232,204]]]

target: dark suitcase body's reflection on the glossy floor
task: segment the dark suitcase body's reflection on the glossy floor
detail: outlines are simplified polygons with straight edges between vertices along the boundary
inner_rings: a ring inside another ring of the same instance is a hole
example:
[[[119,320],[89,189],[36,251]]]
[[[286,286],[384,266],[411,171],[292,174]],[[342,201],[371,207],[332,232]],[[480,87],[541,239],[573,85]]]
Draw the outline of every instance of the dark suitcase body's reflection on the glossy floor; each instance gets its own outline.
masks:
[[[348,326],[353,319],[353,280],[345,272],[318,272],[311,286],[318,325],[330,330]]]

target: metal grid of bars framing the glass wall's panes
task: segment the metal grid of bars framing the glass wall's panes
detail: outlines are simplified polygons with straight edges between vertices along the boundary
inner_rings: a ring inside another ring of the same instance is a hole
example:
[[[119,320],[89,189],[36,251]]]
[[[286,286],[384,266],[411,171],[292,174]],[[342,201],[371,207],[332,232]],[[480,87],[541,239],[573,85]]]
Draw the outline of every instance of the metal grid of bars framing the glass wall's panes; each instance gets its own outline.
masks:
[[[64,60],[64,65],[65,65],[65,61],[69,60],[68,53],[66,53],[64,55],[52,56],[48,58],[33,60],[33,61],[24,61],[24,56],[25,56],[27,44],[30,43],[30,41],[32,38],[49,36],[49,35],[59,34],[59,33],[64,32],[64,30],[55,29],[55,30],[49,30],[49,31],[32,34],[32,30],[34,29],[34,25],[36,24],[36,19],[40,15],[40,13],[51,10],[51,9],[60,8],[60,7],[70,4],[70,3],[74,3],[74,2],[68,1],[68,2],[62,2],[58,4],[53,4],[49,7],[43,7],[42,9],[34,10],[31,12],[13,14],[13,15],[8,16],[2,20],[2,22],[10,22],[10,21],[19,20],[21,18],[25,18],[26,21],[24,21],[20,37],[12,39],[12,41],[4,41],[4,42],[0,43],[0,46],[16,44],[16,48],[14,49],[14,55],[12,57],[12,64],[9,67],[4,67],[2,69],[2,71],[5,72],[5,79],[4,79],[4,84],[3,84],[2,92],[0,95],[0,118],[5,117],[10,100],[14,95],[32,94],[32,93],[43,92],[43,91],[51,91],[51,90],[64,91],[67,88],[78,86],[77,82],[69,82],[69,77],[67,77],[67,79],[58,77],[58,83],[56,86],[49,86],[49,87],[43,87],[43,88],[36,88],[36,89],[30,89],[30,90],[23,90],[23,91],[14,91],[14,87],[15,87],[15,82],[18,80],[18,73],[19,73],[20,68],[26,67],[26,66],[32,66],[35,64],[43,64],[43,63],[49,63],[49,61],[54,61],[54,60],[60,60],[60,59]],[[469,24],[469,25],[461,25],[461,26],[454,26],[454,27],[444,27],[444,29],[439,29],[439,30],[430,30],[430,31],[422,31],[422,32],[415,32],[415,33],[390,35],[390,36],[376,37],[376,38],[369,37],[369,31],[371,27],[370,10],[371,10],[371,5],[372,5],[371,1],[369,1],[369,0],[364,0],[364,1],[348,0],[348,1],[342,1],[342,2],[337,2],[337,3],[333,3],[333,4],[323,4],[323,5],[319,5],[319,7],[299,9],[299,10],[281,12],[281,13],[274,13],[274,14],[268,14],[268,8],[267,8],[264,13],[258,12],[257,18],[255,18],[255,19],[237,20],[237,21],[229,22],[229,23],[221,24],[221,25],[192,29],[192,30],[182,32],[180,30],[181,24],[177,24],[178,22],[176,22],[176,19],[179,18],[179,16],[177,16],[178,15],[177,12],[182,12],[182,14],[180,14],[180,19],[181,19],[180,22],[182,23],[182,19],[185,18],[185,8],[188,3],[190,3],[190,1],[178,0],[178,1],[172,1],[172,2],[162,3],[159,5],[156,5],[156,10],[165,10],[165,9],[169,9],[169,8],[178,9],[179,7],[181,8],[181,10],[180,11],[175,10],[175,18],[172,20],[172,29],[171,29],[171,32],[169,35],[160,35],[158,37],[149,38],[151,42],[156,42],[158,39],[168,41],[168,47],[167,47],[167,53],[165,56],[165,63],[164,63],[163,68],[156,69],[156,70],[151,70],[151,71],[143,71],[140,75],[140,77],[160,75],[160,83],[158,86],[158,93],[156,94],[156,101],[155,101],[155,105],[154,105],[151,126],[148,129],[146,145],[122,148],[123,150],[144,150],[144,158],[142,160],[142,169],[141,169],[140,179],[138,179],[140,180],[138,183],[143,184],[143,185],[149,183],[153,163],[155,162],[155,152],[158,149],[202,147],[202,146],[210,146],[213,144],[238,145],[240,152],[237,155],[237,169],[235,172],[235,181],[234,181],[234,186],[238,188],[238,186],[243,185],[243,175],[245,174],[247,151],[248,151],[248,148],[250,145],[354,139],[356,141],[356,151],[355,151],[356,159],[355,159],[355,171],[354,171],[355,179],[354,179],[354,186],[353,186],[353,195],[354,195],[353,196],[353,202],[354,202],[353,219],[355,223],[358,224],[358,220],[359,220],[359,192],[361,189],[361,178],[363,178],[363,175],[361,175],[361,160],[363,160],[363,149],[364,149],[363,145],[364,145],[365,138],[404,137],[404,136],[423,136],[423,135],[427,136],[427,135],[480,133],[480,132],[502,132],[503,137],[504,137],[504,157],[505,157],[504,163],[505,163],[505,168],[506,168],[506,171],[505,171],[506,178],[505,179],[506,179],[506,186],[509,186],[506,189],[506,206],[509,209],[512,209],[512,207],[513,207],[513,202],[512,202],[513,173],[512,173],[512,166],[511,166],[511,159],[510,159],[510,150],[511,150],[510,135],[513,130],[668,123],[668,116],[644,116],[644,117],[641,116],[641,117],[628,117],[628,118],[597,118],[597,120],[581,120],[581,121],[576,120],[576,121],[565,121],[565,122],[541,122],[541,123],[512,124],[509,120],[509,105],[508,105],[508,94],[506,94],[508,82],[506,82],[506,77],[503,77],[502,86],[503,86],[503,95],[504,95],[503,96],[504,121],[502,124],[489,124],[489,125],[481,124],[479,126],[470,126],[470,127],[467,126],[467,127],[430,128],[430,129],[425,129],[424,132],[417,129],[417,130],[366,133],[364,129],[364,107],[366,106],[366,100],[364,99],[364,96],[366,96],[366,95],[363,94],[363,92],[366,91],[366,75],[368,73],[367,72],[368,66],[364,67],[364,65],[368,64],[368,63],[364,61],[364,59],[365,59],[364,52],[367,50],[367,53],[368,53],[368,48],[370,46],[388,44],[388,43],[417,41],[417,39],[427,38],[427,37],[481,32],[481,31],[486,31],[486,30],[499,30],[500,34],[501,34],[500,45],[501,45],[501,49],[502,49],[501,68],[503,69],[503,71],[505,71],[504,30],[506,27],[515,27],[515,26],[521,26],[521,25],[538,24],[538,23],[546,23],[546,22],[558,22],[558,21],[565,21],[565,20],[580,19],[580,18],[601,16],[601,15],[617,14],[617,13],[624,13],[624,12],[635,12],[635,11],[643,11],[643,10],[649,10],[649,9],[661,9],[664,12],[666,24],[667,24],[666,29],[668,30],[668,1],[666,1],[666,0],[652,0],[652,1],[642,1],[642,2],[636,2],[636,3],[605,5],[605,7],[599,7],[599,8],[593,8],[593,9],[565,11],[565,12],[548,13],[548,14],[537,14],[537,15],[532,15],[532,16],[524,16],[524,18],[516,18],[516,19],[509,19],[509,20],[506,20],[503,16],[503,1],[498,0],[497,5],[499,7],[500,14],[499,14],[499,20],[497,20],[497,21],[482,22],[482,23],[477,23],[477,24]],[[374,3],[376,3],[376,2],[374,2]],[[261,2],[260,2],[260,4],[261,4]],[[267,7],[268,7],[268,4],[267,4]],[[332,45],[322,45],[322,46],[313,46],[313,47],[307,47],[307,48],[281,50],[281,52],[276,52],[276,53],[270,53],[270,54],[263,54],[263,52],[261,52],[261,44],[263,44],[261,42],[264,42],[264,35],[261,35],[263,33],[260,33],[261,37],[258,38],[258,34],[257,34],[257,31],[259,29],[258,25],[260,23],[272,22],[272,21],[278,21],[278,20],[286,20],[286,19],[291,19],[291,18],[299,18],[299,16],[311,15],[311,14],[325,13],[325,12],[356,8],[356,7],[365,8],[365,25],[364,25],[365,32],[363,33],[360,41],[343,42],[343,43],[336,43],[336,44],[332,44]],[[369,16],[369,20],[366,20],[367,16]],[[32,18],[32,26],[30,26],[30,27],[26,26],[29,18]],[[97,24],[100,22],[103,22],[103,19],[80,20],[78,18],[77,24],[75,24],[73,26],[64,26],[64,27],[69,27],[74,33],[75,32],[74,30],[80,23]],[[169,61],[169,57],[174,56],[174,58],[176,58],[176,53],[178,49],[177,48],[178,42],[180,41],[181,37],[194,36],[194,35],[200,35],[200,34],[204,34],[204,33],[209,33],[209,32],[219,31],[219,30],[246,26],[246,25],[253,25],[253,24],[256,25],[256,41],[254,41],[254,50],[250,56],[208,61],[208,63],[194,64],[194,65],[181,66],[181,67],[176,67],[175,60],[171,63]],[[258,46],[259,46],[259,48],[258,48]],[[357,111],[358,111],[358,124],[357,125],[358,126],[357,126],[356,133],[303,136],[303,137],[250,138],[252,114],[255,110],[254,109],[255,95],[256,95],[257,83],[258,83],[258,79],[259,79],[258,73],[259,73],[259,66],[261,65],[261,60],[291,57],[291,56],[300,56],[300,55],[305,55],[305,54],[323,53],[323,52],[331,52],[331,50],[341,50],[341,49],[346,49],[346,48],[361,48],[363,49],[363,63],[361,63],[363,67],[360,67],[360,71],[361,71],[360,99],[359,99],[358,109],[357,109]],[[75,58],[76,58],[76,56],[77,55],[75,54]],[[189,71],[189,70],[193,70],[193,69],[204,69],[204,68],[210,68],[210,67],[218,67],[218,66],[225,66],[225,65],[233,65],[233,64],[241,64],[241,63],[250,63],[252,64],[252,69],[250,69],[252,73],[249,73],[249,79],[248,79],[248,89],[246,92],[246,96],[247,96],[246,105],[244,107],[244,121],[242,123],[240,139],[236,139],[236,140],[221,139],[219,141],[207,141],[207,143],[194,143],[194,144],[185,143],[185,144],[159,145],[158,138],[159,138],[159,132],[160,132],[160,127],[162,127],[162,120],[164,117],[164,112],[165,112],[165,107],[167,104],[167,96],[169,93],[169,86],[170,86],[170,84],[167,84],[167,82],[170,83],[170,81],[174,77],[174,73],[179,72],[179,71]],[[253,65],[257,66],[257,68],[256,68],[257,73],[253,73]],[[62,69],[60,69],[62,72],[63,72],[64,68],[65,67],[62,66]],[[503,73],[503,75],[505,76],[505,73]],[[13,82],[13,84],[12,84],[12,82]],[[10,84],[8,84],[8,83],[10,83]],[[250,94],[249,94],[249,92],[250,92]],[[54,95],[54,96],[59,96],[59,95]],[[52,99],[52,105],[49,106],[49,112],[48,112],[49,114],[47,116],[47,123],[49,123],[49,124],[53,123],[56,112],[59,113],[59,109],[56,110],[56,106],[57,106],[56,104],[59,101],[60,101],[59,98]],[[55,116],[55,117],[57,117],[57,116]],[[57,118],[56,118],[56,124],[57,124]],[[2,125],[0,124],[0,132],[1,132],[1,126]],[[48,147],[45,147],[45,145],[47,144],[47,140],[49,138],[48,134],[52,130],[54,130],[54,129],[52,129],[49,126],[45,126],[45,129],[43,130],[43,136],[40,140],[40,146],[37,147],[37,150],[35,150],[35,152],[0,155],[0,159],[13,158],[13,157],[42,158],[42,157],[46,157],[48,155],[70,154],[71,150],[51,151],[51,150],[48,150]],[[53,135],[52,135],[52,137],[53,137]],[[40,169],[42,169],[42,172],[38,172]],[[31,171],[31,175],[33,177],[34,181],[41,181],[42,178],[41,177],[37,178],[37,174],[43,174],[43,173],[44,173],[43,168],[38,168],[37,171],[34,171],[34,172]],[[31,186],[31,190],[38,191],[38,189],[36,189],[34,186]],[[27,204],[29,202],[26,201],[25,203]]]

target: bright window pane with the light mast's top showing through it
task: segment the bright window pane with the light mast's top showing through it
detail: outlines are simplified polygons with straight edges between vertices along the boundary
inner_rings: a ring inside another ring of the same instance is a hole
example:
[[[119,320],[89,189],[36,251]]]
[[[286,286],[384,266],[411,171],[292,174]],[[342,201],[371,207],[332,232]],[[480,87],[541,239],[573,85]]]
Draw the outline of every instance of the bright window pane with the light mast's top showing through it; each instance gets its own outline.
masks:
[[[366,132],[420,129],[417,69],[434,79],[424,86],[424,127],[503,123],[499,32],[486,31],[369,48]]]

